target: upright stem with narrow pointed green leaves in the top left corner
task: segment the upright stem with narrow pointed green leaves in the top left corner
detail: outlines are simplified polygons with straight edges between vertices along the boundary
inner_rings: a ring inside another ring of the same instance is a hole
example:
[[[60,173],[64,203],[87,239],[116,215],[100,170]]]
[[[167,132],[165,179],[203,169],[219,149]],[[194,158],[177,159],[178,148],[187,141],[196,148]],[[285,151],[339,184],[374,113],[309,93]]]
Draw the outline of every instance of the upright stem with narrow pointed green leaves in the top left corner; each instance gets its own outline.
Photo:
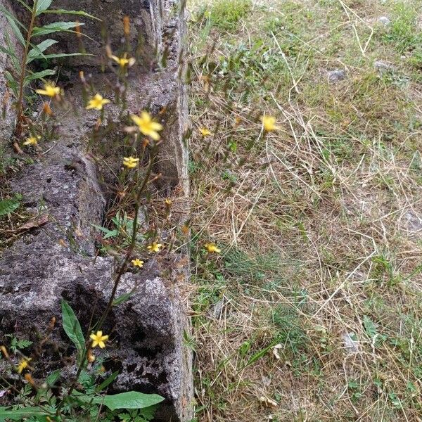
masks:
[[[84,53],[44,53],[49,47],[53,44],[56,44],[58,41],[55,39],[47,38],[41,41],[42,37],[48,34],[53,34],[55,32],[73,32],[72,30],[79,29],[80,25],[83,23],[79,22],[55,22],[49,23],[44,26],[37,26],[37,20],[40,15],[46,13],[56,13],[56,14],[68,14],[68,15],[81,15],[89,18],[94,18],[94,16],[89,15],[84,11],[68,11],[63,9],[50,9],[53,0],[34,0],[32,7],[29,6],[23,0],[18,1],[25,11],[29,15],[29,24],[24,25],[12,11],[9,11],[4,6],[0,6],[0,12],[4,13],[8,23],[11,26],[11,30],[21,44],[23,48],[23,56],[20,59],[18,52],[13,46],[10,37],[8,36],[7,31],[5,32],[6,46],[0,46],[0,51],[6,53],[7,56],[11,59],[12,69],[11,71],[6,71],[5,76],[8,80],[8,86],[11,88],[13,95],[16,98],[16,127],[15,135],[20,138],[23,133],[23,125],[25,124],[25,113],[24,113],[24,101],[25,101],[25,88],[30,85],[31,82],[36,81],[37,79],[43,79],[48,76],[52,76],[56,73],[53,69],[45,69],[39,72],[34,72],[30,69],[30,64],[34,60],[49,60],[52,58],[63,58],[68,56],[80,56]],[[79,33],[79,31],[78,31]],[[44,81],[45,82],[45,81]],[[51,87],[47,85],[46,89]],[[59,91],[54,89],[49,90],[49,96],[58,96]]]

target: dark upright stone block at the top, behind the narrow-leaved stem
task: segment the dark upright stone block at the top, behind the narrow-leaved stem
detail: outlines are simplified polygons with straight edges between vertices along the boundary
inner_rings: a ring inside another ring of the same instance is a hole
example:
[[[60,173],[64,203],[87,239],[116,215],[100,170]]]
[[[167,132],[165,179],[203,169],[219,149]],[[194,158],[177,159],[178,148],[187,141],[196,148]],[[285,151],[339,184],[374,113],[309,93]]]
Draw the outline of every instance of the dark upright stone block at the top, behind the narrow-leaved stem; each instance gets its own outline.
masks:
[[[19,8],[19,5],[16,5]],[[81,43],[87,53],[93,56],[70,59],[70,65],[98,65],[99,58],[105,56],[106,44],[110,44],[116,55],[127,51],[124,37],[123,18],[129,17],[130,34],[129,49],[138,58],[139,67],[151,68],[157,60],[162,46],[162,32],[165,26],[166,13],[163,0],[55,0],[53,9],[84,11],[99,20],[74,15],[43,14],[39,23],[46,25],[56,21],[78,20],[83,25],[83,34],[89,37],[77,37],[77,34],[56,33],[51,37],[59,41],[50,51],[78,52]]]

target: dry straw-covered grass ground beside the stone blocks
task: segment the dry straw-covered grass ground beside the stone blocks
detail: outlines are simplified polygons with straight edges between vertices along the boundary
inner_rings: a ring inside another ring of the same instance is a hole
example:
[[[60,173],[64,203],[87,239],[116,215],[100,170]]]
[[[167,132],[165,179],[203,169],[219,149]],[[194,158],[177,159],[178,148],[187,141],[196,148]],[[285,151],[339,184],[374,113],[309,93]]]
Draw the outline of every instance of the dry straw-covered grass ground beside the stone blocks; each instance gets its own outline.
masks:
[[[198,421],[422,420],[422,5],[237,3],[191,5]]]

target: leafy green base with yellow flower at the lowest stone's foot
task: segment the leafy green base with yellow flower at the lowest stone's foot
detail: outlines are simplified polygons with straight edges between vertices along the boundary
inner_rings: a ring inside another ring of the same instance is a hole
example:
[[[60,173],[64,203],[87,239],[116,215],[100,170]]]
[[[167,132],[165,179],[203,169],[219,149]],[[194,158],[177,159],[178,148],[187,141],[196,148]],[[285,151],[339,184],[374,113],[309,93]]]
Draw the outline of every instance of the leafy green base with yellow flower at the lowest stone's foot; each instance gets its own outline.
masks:
[[[98,385],[94,374],[101,373],[102,359],[96,362],[94,348],[106,350],[109,335],[101,329],[88,331],[84,335],[79,320],[72,307],[65,300],[61,303],[62,324],[68,338],[77,351],[75,379],[65,378],[61,369],[51,371],[44,381],[36,380],[32,376],[37,371],[37,352],[33,357],[26,357],[20,353],[8,352],[6,346],[1,345],[0,354],[6,361],[6,373],[15,373],[25,380],[25,391],[22,393],[15,386],[8,383],[4,375],[0,376],[1,383],[6,383],[11,392],[20,395],[19,407],[0,407],[0,420],[21,421],[30,418],[34,422],[46,421],[113,421],[122,411],[132,411],[143,416],[143,421],[151,420],[154,406],[164,400],[160,395],[143,394],[136,391],[107,395],[108,385],[113,383],[118,372],[113,372]],[[54,322],[50,328],[53,328]],[[97,324],[98,326],[98,324]],[[41,340],[49,340],[49,334]],[[25,343],[26,345],[28,343]],[[20,357],[19,357],[20,356]],[[18,357],[18,359],[16,359]],[[90,375],[92,374],[92,375]],[[60,390],[60,395],[56,394]],[[151,416],[151,417],[150,417]]]

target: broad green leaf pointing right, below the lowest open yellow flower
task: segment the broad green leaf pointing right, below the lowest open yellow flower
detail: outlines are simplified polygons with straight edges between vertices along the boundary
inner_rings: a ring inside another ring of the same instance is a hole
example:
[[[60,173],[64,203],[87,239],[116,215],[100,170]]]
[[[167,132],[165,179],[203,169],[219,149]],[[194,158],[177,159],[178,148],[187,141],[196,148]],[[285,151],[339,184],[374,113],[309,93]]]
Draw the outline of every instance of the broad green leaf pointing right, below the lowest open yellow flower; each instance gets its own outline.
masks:
[[[115,409],[143,409],[158,404],[164,400],[158,394],[143,394],[143,392],[128,391],[115,395],[94,397],[94,404],[104,404],[110,410]]]

